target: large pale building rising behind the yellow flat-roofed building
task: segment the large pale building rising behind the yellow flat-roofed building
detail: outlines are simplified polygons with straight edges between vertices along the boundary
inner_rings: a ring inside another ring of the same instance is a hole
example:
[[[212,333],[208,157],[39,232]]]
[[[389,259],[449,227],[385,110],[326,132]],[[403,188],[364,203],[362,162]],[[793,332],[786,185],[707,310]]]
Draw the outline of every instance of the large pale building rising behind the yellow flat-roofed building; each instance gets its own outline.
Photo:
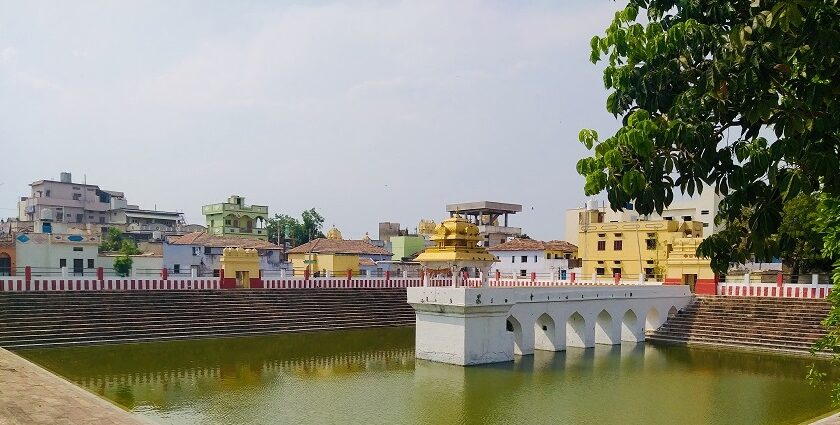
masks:
[[[714,188],[705,186],[702,194],[674,201],[662,211],[661,215],[654,212],[643,216],[633,210],[632,204],[628,205],[624,211],[613,211],[608,205],[604,203],[599,205],[597,201],[591,200],[585,207],[566,210],[566,240],[573,244],[578,243],[578,230],[582,224],[586,224],[580,222],[580,213],[587,209],[600,211],[603,214],[601,221],[603,223],[638,220],[699,221],[703,223],[703,237],[705,238],[720,231],[720,226],[715,225],[715,215],[717,215],[720,201],[721,197],[715,193]]]

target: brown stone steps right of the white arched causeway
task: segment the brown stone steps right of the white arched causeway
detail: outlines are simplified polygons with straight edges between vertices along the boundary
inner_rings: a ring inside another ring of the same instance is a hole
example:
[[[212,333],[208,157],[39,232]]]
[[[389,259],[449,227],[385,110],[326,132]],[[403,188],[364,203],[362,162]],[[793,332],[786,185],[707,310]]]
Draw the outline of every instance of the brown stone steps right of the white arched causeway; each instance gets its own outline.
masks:
[[[697,297],[647,339],[805,354],[825,335],[820,322],[829,308],[813,299]]]

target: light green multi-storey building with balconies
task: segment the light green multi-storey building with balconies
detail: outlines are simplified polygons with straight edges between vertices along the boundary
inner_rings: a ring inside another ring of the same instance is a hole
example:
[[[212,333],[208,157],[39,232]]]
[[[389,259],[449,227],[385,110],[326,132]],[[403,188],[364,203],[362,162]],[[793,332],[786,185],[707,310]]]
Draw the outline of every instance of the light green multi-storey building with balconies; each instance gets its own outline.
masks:
[[[267,206],[246,205],[244,197],[233,195],[227,202],[201,207],[201,213],[207,221],[207,233],[211,235],[268,240],[265,229]]]

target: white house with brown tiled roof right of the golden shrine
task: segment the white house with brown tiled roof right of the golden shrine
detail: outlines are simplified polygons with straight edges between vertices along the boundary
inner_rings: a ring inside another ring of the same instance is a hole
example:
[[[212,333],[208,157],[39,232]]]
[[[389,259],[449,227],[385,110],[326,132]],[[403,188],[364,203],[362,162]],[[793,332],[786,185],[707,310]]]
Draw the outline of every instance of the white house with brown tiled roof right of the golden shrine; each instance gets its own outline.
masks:
[[[499,258],[490,269],[492,279],[496,271],[502,278],[568,279],[578,267],[574,259],[577,246],[565,241],[537,241],[533,239],[512,239],[491,246],[487,251]]]

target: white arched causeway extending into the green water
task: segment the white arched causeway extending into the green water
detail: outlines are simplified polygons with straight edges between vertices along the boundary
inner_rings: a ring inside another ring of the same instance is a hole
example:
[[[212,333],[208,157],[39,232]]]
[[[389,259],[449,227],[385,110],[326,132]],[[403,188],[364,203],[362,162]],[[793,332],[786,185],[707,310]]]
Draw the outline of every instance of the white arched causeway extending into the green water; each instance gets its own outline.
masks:
[[[408,288],[416,357],[457,365],[641,342],[691,297],[684,285]]]

